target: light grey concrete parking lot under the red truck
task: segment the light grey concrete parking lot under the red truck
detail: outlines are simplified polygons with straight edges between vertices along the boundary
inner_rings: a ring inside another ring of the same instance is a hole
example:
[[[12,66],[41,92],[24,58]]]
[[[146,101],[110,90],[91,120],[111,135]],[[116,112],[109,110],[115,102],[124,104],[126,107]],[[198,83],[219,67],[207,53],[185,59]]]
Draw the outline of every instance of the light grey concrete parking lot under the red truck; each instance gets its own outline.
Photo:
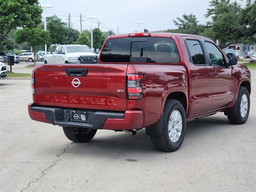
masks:
[[[71,142],[61,127],[30,120],[30,80],[1,80],[0,191],[255,192],[256,70],[251,73],[246,124],[232,125],[223,113],[188,122],[172,153],[153,148],[145,130],[135,136],[98,130],[91,142]]]

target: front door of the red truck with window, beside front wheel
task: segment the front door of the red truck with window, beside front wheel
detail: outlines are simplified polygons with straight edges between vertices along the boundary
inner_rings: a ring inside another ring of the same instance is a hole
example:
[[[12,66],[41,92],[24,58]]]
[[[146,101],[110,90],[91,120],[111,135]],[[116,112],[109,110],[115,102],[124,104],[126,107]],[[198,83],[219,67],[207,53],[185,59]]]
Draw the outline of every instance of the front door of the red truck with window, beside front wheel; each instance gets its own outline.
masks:
[[[234,99],[236,79],[233,76],[233,67],[228,66],[228,60],[218,47],[212,42],[205,41],[208,59],[212,64],[213,87],[212,106],[210,110],[228,106]]]

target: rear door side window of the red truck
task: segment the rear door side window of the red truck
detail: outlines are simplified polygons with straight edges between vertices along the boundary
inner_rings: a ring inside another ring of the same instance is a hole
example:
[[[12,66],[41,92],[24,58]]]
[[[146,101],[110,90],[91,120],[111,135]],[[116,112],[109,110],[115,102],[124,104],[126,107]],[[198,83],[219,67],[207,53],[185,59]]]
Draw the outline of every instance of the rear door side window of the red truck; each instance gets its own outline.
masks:
[[[186,40],[187,51],[190,53],[192,62],[195,65],[205,65],[206,61],[200,42],[197,40]]]

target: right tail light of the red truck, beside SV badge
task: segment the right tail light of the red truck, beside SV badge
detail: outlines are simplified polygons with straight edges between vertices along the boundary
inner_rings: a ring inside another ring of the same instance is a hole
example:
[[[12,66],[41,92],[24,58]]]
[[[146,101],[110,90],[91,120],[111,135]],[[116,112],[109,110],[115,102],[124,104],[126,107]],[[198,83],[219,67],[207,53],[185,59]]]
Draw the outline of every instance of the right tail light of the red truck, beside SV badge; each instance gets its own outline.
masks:
[[[144,74],[127,74],[127,99],[140,100],[143,97],[141,80]]]

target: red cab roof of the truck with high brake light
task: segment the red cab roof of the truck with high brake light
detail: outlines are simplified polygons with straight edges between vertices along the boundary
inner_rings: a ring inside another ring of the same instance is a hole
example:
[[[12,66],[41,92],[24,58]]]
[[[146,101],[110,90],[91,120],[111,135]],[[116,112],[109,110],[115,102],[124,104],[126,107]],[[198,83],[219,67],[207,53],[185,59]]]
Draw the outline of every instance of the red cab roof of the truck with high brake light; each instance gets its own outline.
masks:
[[[133,36],[131,36],[131,34],[134,34]],[[139,34],[141,34],[141,36],[139,36]],[[119,34],[119,35],[112,35],[109,36],[109,38],[125,38],[125,37],[143,37],[143,34],[150,34],[151,37],[172,37],[172,36],[176,36],[176,37],[180,37],[180,36],[190,36],[190,37],[197,37],[197,38],[205,38],[205,39],[209,39],[207,37],[203,37],[203,36],[198,36],[198,35],[191,35],[191,34],[181,34],[181,33],[162,33],[162,32],[149,32],[149,33],[127,33],[127,34]],[[145,37],[147,37],[149,35],[145,35]]]

